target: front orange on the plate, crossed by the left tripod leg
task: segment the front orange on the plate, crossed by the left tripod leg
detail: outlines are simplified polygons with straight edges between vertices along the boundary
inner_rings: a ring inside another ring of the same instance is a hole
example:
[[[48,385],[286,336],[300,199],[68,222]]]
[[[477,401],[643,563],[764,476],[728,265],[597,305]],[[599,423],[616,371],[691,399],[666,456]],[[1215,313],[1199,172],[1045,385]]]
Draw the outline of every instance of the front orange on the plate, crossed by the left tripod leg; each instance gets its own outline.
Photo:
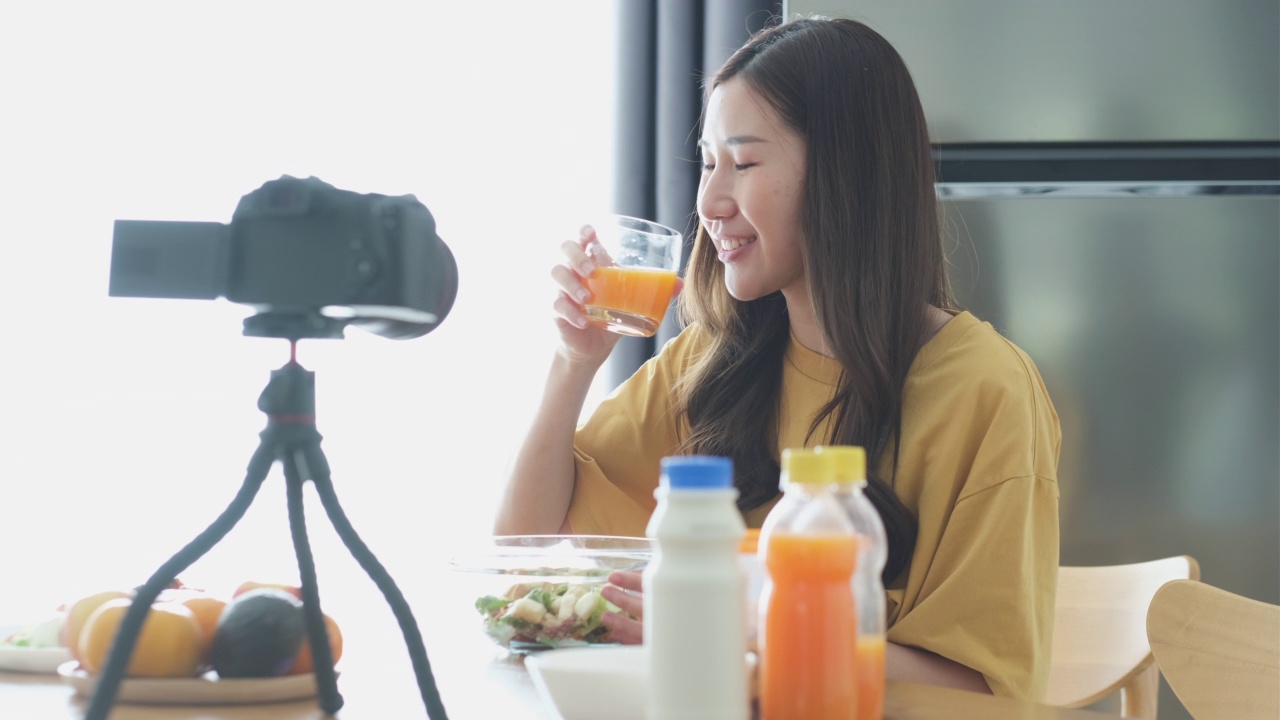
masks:
[[[106,656],[132,601],[109,600],[100,605],[79,637],[79,661],[91,674],[102,671]],[[125,675],[133,678],[191,678],[204,655],[196,615],[186,606],[160,602],[151,606],[133,646]]]

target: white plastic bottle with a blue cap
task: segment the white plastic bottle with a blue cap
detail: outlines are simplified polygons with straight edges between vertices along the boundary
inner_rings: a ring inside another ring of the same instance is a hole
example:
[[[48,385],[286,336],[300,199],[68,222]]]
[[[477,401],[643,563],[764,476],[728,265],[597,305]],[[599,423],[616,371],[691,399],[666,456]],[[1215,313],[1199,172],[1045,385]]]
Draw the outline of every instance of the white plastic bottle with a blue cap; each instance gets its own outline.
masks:
[[[727,457],[664,457],[645,532],[649,720],[746,720],[746,578],[737,552],[746,527]]]

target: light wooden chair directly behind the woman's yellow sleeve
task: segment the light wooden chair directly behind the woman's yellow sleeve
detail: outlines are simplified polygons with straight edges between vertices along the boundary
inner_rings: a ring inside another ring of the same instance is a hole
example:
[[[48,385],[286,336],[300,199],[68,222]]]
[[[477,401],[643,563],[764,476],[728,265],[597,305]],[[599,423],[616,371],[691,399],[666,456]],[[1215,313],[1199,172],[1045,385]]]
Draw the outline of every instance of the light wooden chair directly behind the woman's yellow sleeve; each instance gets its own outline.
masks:
[[[1161,585],[1179,579],[1199,579],[1196,559],[1059,568],[1044,702],[1083,707],[1119,691],[1124,717],[1155,720],[1160,670],[1147,642],[1147,607]]]

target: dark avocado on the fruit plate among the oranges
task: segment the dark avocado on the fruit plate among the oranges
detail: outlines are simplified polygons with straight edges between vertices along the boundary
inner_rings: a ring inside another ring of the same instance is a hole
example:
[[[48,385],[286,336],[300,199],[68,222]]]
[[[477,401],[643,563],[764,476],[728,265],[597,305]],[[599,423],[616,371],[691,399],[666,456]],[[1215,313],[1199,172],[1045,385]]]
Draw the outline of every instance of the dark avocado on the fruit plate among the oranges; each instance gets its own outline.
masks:
[[[220,678],[275,678],[302,648],[302,602],[278,588],[250,591],[218,618],[209,661]]]

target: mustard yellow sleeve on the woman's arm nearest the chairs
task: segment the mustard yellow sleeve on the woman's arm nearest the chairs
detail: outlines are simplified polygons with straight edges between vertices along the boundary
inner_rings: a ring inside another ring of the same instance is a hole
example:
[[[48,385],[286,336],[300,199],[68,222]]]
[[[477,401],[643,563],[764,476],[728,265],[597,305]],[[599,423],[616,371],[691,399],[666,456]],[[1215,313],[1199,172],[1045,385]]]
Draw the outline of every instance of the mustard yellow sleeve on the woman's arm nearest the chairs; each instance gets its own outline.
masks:
[[[1061,427],[1021,350],[969,316],[951,324],[909,380],[895,489],[919,525],[886,638],[1034,701],[1052,656]]]

